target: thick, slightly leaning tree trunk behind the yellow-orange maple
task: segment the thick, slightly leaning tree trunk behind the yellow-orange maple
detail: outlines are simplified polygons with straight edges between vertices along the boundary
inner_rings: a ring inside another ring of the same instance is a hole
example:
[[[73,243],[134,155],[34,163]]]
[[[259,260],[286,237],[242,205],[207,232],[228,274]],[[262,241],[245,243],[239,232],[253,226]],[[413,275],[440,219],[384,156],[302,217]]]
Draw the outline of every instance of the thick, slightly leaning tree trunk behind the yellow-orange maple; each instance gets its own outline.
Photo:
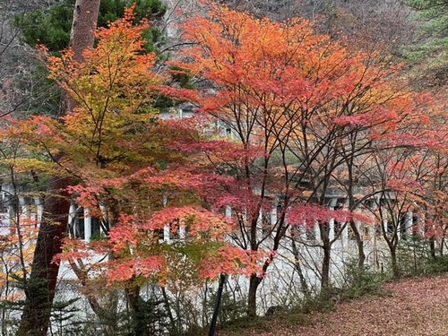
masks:
[[[99,0],[77,0],[73,15],[72,41],[75,59],[82,62],[82,52],[93,47],[94,30],[98,20]],[[73,108],[73,100],[63,97],[60,116],[66,116]],[[31,264],[30,280],[25,284],[25,305],[18,335],[45,336],[55,297],[59,265],[53,263],[61,253],[62,238],[68,222],[70,200],[65,192],[71,178],[50,177],[48,195],[44,203],[44,218]]]

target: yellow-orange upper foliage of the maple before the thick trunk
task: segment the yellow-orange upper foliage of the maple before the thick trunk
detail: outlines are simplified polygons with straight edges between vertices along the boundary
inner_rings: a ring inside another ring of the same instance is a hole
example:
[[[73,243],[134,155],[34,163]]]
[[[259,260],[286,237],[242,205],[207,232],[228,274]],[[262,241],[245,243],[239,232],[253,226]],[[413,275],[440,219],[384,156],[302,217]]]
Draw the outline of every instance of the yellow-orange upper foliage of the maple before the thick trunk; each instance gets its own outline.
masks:
[[[144,54],[143,49],[142,33],[149,24],[143,21],[134,26],[133,22],[131,8],[123,20],[99,29],[98,44],[84,52],[82,63],[73,58],[70,49],[61,57],[48,56],[43,49],[50,77],[77,106],[65,116],[64,123],[42,119],[37,127],[32,125],[30,133],[39,130],[39,145],[63,154],[60,162],[78,176],[82,167],[122,171],[129,168],[126,159],[141,159],[133,151],[142,151],[142,133],[158,115],[152,104],[162,78],[152,70],[156,55]]]

